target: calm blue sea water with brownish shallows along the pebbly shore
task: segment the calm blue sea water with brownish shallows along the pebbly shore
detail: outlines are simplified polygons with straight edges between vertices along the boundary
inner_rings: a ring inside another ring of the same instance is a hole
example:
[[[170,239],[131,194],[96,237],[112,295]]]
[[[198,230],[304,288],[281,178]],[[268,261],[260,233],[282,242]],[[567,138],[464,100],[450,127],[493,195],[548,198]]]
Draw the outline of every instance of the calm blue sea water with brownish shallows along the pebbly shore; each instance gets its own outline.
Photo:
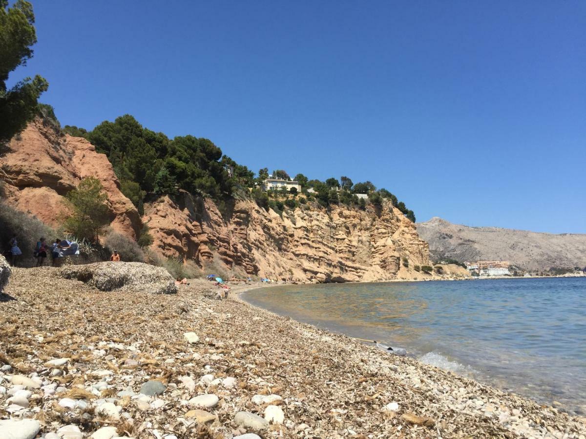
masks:
[[[586,278],[287,285],[243,299],[586,413]]]

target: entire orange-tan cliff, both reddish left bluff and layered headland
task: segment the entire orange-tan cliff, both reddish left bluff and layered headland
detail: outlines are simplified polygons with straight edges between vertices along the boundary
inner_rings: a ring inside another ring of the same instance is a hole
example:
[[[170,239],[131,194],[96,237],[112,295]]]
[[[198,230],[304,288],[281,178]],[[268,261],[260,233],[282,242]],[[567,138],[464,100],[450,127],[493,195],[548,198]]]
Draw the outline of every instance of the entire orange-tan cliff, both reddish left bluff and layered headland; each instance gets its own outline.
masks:
[[[135,238],[146,223],[156,252],[206,270],[297,282],[437,276],[414,270],[429,265],[428,245],[390,204],[366,211],[307,204],[281,217],[254,201],[235,200],[222,215],[213,201],[182,192],[174,200],[145,204],[141,219],[121,193],[107,157],[86,139],[62,135],[41,119],[12,139],[0,169],[6,202],[54,227],[69,213],[63,203],[67,192],[83,177],[97,177],[108,194],[114,229]]]

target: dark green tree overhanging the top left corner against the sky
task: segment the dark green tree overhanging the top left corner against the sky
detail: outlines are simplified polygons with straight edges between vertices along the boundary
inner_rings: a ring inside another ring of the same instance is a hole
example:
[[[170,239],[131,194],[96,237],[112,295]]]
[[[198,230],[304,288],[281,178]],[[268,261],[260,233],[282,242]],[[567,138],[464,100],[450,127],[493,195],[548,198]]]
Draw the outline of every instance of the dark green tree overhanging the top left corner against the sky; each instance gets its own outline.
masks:
[[[17,0],[11,8],[0,0],[0,146],[21,132],[38,112],[38,99],[49,83],[36,75],[25,78],[11,89],[6,81],[11,71],[26,65],[36,43],[35,14],[29,2]]]

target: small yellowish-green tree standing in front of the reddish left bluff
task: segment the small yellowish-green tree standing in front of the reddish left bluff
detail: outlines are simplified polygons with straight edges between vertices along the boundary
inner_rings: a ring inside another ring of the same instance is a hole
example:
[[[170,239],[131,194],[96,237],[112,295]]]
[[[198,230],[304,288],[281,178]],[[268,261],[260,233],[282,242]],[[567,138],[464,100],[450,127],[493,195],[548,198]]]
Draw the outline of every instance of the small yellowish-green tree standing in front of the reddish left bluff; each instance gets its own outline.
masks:
[[[108,197],[100,180],[86,177],[76,189],[66,195],[73,214],[64,222],[64,227],[79,239],[96,242],[105,225],[110,222]]]

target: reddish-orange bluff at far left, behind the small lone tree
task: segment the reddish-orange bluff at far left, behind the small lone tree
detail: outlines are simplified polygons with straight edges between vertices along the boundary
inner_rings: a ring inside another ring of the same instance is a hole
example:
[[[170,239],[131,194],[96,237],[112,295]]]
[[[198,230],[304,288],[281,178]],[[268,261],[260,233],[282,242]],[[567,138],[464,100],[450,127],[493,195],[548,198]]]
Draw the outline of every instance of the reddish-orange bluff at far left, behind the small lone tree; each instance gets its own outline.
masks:
[[[69,214],[63,197],[84,177],[96,177],[108,195],[112,227],[130,238],[137,236],[137,209],[121,193],[107,157],[86,139],[59,135],[38,118],[11,140],[0,167],[6,173],[0,178],[6,183],[8,204],[54,227]]]

